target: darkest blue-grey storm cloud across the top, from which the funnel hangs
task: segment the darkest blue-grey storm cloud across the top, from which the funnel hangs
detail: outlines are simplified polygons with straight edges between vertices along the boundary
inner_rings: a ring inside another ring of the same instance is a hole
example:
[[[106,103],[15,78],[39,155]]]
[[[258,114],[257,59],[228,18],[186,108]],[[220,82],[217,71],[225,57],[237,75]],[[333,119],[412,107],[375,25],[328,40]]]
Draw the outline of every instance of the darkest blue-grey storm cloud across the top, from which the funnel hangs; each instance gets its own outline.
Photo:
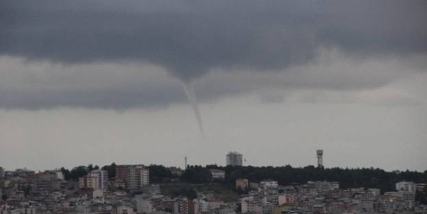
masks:
[[[427,51],[426,1],[2,1],[0,54],[138,60],[181,79],[211,68],[279,70],[320,46]]]

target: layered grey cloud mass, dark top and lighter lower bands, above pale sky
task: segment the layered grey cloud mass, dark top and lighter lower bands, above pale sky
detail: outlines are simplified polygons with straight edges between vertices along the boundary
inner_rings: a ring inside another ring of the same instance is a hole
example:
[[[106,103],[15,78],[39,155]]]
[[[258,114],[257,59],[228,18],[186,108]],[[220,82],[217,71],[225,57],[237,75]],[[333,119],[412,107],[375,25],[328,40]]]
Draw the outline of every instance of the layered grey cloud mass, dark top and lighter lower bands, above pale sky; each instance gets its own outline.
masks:
[[[0,73],[10,77],[0,81],[0,107],[5,108],[121,109],[183,101],[179,84],[150,79],[144,69],[138,74],[138,68],[123,66],[127,62],[160,66],[153,70],[166,68],[181,80],[210,72],[210,79],[201,83],[206,87],[198,88],[203,100],[261,85],[372,88],[400,75],[376,64],[341,71],[358,64],[338,62],[336,56],[339,68],[318,71],[311,63],[319,49],[364,59],[427,53],[426,1],[2,1],[0,10],[0,55],[65,65],[40,66],[53,71],[41,80],[28,79],[43,71],[16,66],[21,62],[6,57]],[[103,72],[103,66],[88,65],[105,62],[121,67]],[[299,74],[279,72],[291,66]],[[391,71],[365,72],[372,68]],[[27,72],[8,74],[17,70]],[[251,72],[217,75],[218,70]],[[114,73],[126,77],[113,78]],[[88,77],[94,81],[79,85]]]

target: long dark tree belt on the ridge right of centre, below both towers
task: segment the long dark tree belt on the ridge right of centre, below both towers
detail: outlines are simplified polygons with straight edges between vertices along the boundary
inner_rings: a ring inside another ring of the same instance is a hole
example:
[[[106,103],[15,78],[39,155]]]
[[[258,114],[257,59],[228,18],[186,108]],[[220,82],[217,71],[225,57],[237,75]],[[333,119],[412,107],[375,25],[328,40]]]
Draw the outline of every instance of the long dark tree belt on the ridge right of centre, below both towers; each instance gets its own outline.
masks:
[[[215,167],[213,166],[207,166]],[[379,168],[316,168],[309,165],[305,168],[282,167],[219,167],[226,172],[226,182],[233,184],[237,178],[248,178],[259,182],[265,179],[277,180],[280,185],[307,183],[309,180],[338,181],[341,188],[367,187],[379,188],[381,191],[393,191],[395,184],[401,180],[415,183],[427,183],[427,171],[386,172]]]

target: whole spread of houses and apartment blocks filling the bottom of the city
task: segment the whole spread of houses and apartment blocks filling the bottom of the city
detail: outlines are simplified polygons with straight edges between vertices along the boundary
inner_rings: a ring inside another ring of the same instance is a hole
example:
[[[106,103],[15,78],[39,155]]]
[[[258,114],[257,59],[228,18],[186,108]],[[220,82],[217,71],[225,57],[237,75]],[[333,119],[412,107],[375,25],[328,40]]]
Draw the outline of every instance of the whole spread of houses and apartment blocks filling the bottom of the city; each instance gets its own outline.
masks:
[[[225,177],[222,170],[211,174],[214,180]],[[151,184],[149,176],[144,165],[117,165],[114,178],[104,170],[92,170],[79,180],[64,180],[60,170],[0,168],[0,214],[427,213],[426,205],[415,202],[417,188],[425,185],[405,181],[396,183],[396,191],[381,193],[363,187],[340,189],[337,182],[283,186],[276,180],[254,183],[240,178],[233,188],[241,190],[233,192],[237,198],[224,200],[216,191],[196,191],[192,198],[168,196],[162,189],[174,184]]]

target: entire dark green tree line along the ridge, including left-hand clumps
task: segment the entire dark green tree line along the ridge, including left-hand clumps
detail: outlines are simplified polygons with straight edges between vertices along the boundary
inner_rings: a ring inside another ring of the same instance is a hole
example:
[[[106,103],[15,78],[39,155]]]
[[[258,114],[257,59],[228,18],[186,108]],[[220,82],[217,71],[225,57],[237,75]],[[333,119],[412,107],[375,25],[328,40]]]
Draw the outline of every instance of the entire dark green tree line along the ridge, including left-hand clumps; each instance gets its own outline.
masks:
[[[91,170],[99,169],[97,165],[78,166],[72,170],[62,168],[65,179],[77,179],[88,174]],[[116,176],[116,164],[105,165],[101,169],[108,172],[109,178]],[[293,183],[307,183],[309,180],[338,181],[342,188],[367,187],[379,188],[381,191],[393,191],[395,184],[401,180],[415,183],[427,183],[427,170],[416,172],[406,170],[404,172],[386,172],[379,168],[317,168],[313,165],[304,168],[293,168],[290,165],[281,167],[254,167],[254,166],[218,166],[218,165],[189,165],[181,177],[174,176],[164,165],[149,165],[151,183],[165,183],[173,178],[179,178],[187,183],[211,182],[210,169],[225,171],[224,185],[232,187],[237,178],[247,178],[250,182],[261,180],[277,180],[280,185]]]

